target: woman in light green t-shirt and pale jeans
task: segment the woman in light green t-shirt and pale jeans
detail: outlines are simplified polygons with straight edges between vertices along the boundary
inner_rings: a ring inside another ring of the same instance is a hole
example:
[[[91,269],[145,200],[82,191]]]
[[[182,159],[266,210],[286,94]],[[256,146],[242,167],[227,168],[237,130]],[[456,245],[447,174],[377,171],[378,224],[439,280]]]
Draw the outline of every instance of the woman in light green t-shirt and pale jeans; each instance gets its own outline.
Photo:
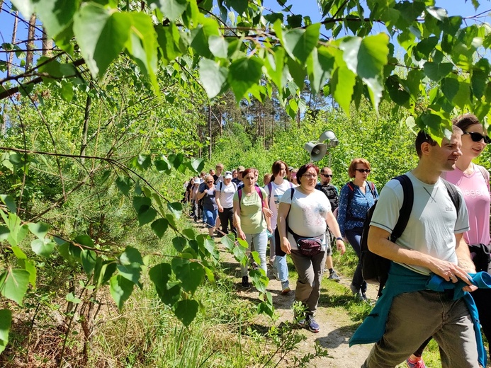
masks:
[[[254,251],[259,253],[261,268],[264,276],[268,274],[266,266],[266,248],[268,246],[268,234],[266,229],[271,232],[271,222],[268,216],[263,215],[263,207],[269,209],[266,192],[263,188],[256,187],[256,169],[247,168],[242,173],[244,186],[235,192],[234,202],[234,222],[237,229],[237,237],[247,241],[249,248],[247,253],[254,246]],[[240,265],[242,272],[242,287],[249,287],[249,276],[247,275],[247,265]]]

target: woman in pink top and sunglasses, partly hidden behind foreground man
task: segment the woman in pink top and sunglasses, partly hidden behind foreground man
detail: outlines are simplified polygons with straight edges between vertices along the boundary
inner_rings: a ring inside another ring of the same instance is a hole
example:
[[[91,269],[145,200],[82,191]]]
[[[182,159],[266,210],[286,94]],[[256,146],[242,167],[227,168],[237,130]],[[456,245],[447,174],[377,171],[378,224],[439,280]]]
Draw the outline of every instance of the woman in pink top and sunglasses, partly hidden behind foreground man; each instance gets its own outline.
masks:
[[[465,114],[456,117],[453,125],[461,128],[462,135],[462,156],[456,163],[453,171],[444,171],[441,177],[461,188],[465,200],[465,205],[469,213],[470,230],[465,232],[462,241],[470,246],[470,255],[475,264],[475,270],[469,268],[467,272],[487,271],[487,258],[485,253],[490,251],[490,173],[482,166],[473,163],[485,150],[487,144],[491,142],[478,118],[472,114]],[[478,251],[481,247],[484,252]],[[482,265],[482,258],[485,258]],[[477,289],[471,294],[478,307],[479,321],[482,333],[491,341],[491,290]],[[431,338],[423,343],[419,349],[407,359],[407,367],[425,368],[422,360],[424,348],[428,345]],[[490,351],[491,352],[491,351]]]

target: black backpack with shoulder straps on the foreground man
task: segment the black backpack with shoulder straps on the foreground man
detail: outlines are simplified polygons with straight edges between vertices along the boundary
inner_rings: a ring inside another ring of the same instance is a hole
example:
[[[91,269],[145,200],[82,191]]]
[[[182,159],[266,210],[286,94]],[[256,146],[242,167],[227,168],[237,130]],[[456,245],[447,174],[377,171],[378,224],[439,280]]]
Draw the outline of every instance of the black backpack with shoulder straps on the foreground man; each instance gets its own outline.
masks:
[[[390,234],[390,241],[393,243],[395,243],[396,239],[399,238],[406,229],[412,211],[412,204],[414,202],[414,190],[410,178],[406,175],[401,175],[394,179],[398,180],[402,185],[404,200],[402,200],[402,207],[399,209],[399,219],[397,219],[397,224],[395,224],[393,232]],[[453,205],[456,207],[458,213],[458,210],[461,207],[461,197],[458,195],[457,188],[455,185],[448,183],[448,181],[442,180],[444,181],[448,195],[450,195]],[[388,279],[391,261],[378,254],[372,253],[368,249],[368,230],[370,229],[370,222],[376,205],[377,202],[368,209],[365,222],[363,222],[363,233],[361,234],[361,273],[363,275],[363,280],[368,284],[380,285],[377,294],[377,297],[380,297],[385,282],[387,282]]]

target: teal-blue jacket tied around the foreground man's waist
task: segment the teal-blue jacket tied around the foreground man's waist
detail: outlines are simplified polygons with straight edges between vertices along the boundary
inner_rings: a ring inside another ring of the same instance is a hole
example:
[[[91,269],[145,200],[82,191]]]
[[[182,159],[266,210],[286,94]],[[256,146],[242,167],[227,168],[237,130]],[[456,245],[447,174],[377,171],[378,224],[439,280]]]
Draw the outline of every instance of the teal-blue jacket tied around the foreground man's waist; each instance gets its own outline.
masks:
[[[472,283],[482,289],[491,288],[491,275],[487,272],[478,272],[469,274],[472,277]],[[470,317],[474,323],[475,339],[478,343],[479,364],[486,367],[486,350],[482,343],[480,333],[478,309],[476,309],[474,299],[470,293],[462,290],[465,282],[458,280],[453,282],[445,281],[438,275],[421,275],[408,268],[392,263],[389,270],[389,278],[382,297],[377,301],[371,313],[365,318],[361,326],[355,331],[349,340],[349,346],[356,344],[376,343],[385,333],[385,323],[388,318],[390,306],[394,297],[405,292],[418,292],[420,290],[433,290],[435,292],[444,292],[453,289],[453,300],[461,299],[467,304]]]

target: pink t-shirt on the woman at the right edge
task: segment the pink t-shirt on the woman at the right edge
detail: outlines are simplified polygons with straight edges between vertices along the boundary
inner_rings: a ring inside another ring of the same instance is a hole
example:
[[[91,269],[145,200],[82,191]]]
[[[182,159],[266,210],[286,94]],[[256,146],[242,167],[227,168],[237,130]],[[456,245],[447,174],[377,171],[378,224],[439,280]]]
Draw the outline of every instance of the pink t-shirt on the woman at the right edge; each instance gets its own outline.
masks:
[[[487,179],[477,165],[474,165],[474,172],[470,175],[463,173],[456,168],[454,171],[443,173],[442,178],[448,180],[461,188],[465,205],[469,212],[470,230],[463,234],[463,238],[468,244],[489,244],[490,243],[490,190]]]

